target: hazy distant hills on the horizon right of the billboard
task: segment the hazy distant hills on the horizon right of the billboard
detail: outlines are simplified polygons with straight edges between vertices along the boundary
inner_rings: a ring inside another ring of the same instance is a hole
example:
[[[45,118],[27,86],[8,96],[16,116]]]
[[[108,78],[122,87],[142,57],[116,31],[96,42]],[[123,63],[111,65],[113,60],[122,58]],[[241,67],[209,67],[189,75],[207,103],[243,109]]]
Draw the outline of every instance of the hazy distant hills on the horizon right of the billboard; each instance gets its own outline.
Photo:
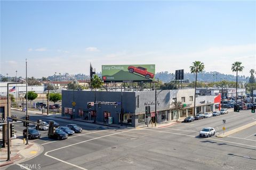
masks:
[[[215,82],[215,81],[236,81],[236,77],[231,74],[222,74],[219,72],[203,72],[197,74],[197,80],[202,82]],[[163,81],[163,82],[170,82],[175,79],[175,73],[159,72],[156,73],[155,78]],[[195,81],[195,74],[185,73],[184,79],[188,81]],[[238,75],[238,81],[249,81],[249,77],[245,77],[244,75]]]

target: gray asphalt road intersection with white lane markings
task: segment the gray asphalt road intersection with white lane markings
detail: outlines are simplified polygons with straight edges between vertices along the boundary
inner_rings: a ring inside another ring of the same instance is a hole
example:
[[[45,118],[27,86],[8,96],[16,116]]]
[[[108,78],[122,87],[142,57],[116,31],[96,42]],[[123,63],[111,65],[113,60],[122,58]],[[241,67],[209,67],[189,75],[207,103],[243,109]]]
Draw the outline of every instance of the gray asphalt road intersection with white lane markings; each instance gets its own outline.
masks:
[[[38,118],[61,125],[76,123],[84,130],[66,140],[34,140],[44,152],[20,163],[29,169],[256,169],[255,126],[225,138],[198,137],[209,126],[223,133],[223,119],[226,131],[256,121],[250,110],[149,129],[95,130],[99,125],[30,115],[30,120]],[[12,165],[7,169],[23,168]]]

